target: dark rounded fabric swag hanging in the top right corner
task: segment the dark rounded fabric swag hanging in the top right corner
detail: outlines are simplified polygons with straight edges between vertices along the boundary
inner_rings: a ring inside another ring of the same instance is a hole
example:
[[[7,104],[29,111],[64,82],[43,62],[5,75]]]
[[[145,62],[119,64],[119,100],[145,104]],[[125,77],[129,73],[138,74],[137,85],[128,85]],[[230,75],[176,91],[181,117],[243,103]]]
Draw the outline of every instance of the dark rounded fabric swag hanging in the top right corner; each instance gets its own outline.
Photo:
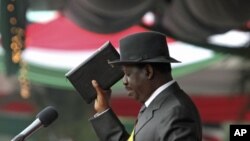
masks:
[[[216,28],[238,28],[250,20],[249,0],[188,0],[187,6],[199,21]]]

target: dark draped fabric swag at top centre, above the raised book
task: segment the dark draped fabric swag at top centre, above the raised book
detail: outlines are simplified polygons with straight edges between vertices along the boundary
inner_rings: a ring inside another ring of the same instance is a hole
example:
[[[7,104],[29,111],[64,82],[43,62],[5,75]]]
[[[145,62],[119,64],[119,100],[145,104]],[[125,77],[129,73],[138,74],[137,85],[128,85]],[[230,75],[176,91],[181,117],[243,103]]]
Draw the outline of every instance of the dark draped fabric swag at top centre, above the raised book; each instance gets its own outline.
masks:
[[[114,33],[139,23],[153,0],[70,0],[64,14],[80,27],[97,33]]]

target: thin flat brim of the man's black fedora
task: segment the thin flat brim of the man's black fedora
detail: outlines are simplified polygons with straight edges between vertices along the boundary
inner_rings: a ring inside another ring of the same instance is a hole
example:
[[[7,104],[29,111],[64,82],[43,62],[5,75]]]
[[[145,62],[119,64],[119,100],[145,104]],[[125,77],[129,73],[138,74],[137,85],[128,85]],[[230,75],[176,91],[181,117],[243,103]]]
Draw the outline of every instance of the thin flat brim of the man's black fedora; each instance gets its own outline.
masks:
[[[114,61],[109,61],[108,63],[112,65],[123,65],[123,64],[181,63],[181,62],[170,57],[170,58],[152,58],[152,59],[145,59],[145,60],[114,60]]]

